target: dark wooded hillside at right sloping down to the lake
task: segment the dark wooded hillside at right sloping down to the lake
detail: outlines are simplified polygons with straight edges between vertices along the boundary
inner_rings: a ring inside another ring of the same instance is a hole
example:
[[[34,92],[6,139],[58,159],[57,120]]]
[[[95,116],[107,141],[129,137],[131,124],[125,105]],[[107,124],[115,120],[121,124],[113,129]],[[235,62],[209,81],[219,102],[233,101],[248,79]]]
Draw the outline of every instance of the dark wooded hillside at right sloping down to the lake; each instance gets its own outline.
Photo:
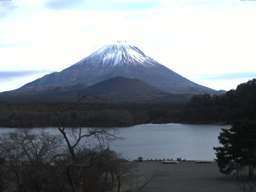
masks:
[[[182,120],[188,122],[234,122],[256,119],[256,79],[239,84],[224,95],[193,96],[184,108]]]

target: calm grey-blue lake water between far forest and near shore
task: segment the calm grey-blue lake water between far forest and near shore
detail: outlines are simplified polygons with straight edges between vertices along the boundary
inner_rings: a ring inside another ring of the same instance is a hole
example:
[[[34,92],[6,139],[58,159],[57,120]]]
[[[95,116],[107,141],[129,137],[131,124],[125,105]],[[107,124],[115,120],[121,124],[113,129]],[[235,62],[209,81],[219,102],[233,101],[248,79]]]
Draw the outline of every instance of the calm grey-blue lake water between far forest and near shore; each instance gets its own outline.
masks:
[[[206,124],[142,124],[118,128],[118,140],[110,144],[110,148],[122,153],[122,156],[136,159],[181,157],[186,160],[213,160],[216,158],[214,146],[220,146],[218,135],[221,128]],[[33,128],[34,131],[41,128]],[[56,128],[45,128],[52,134],[57,134]],[[86,128],[84,128],[86,129]],[[0,133],[8,132],[10,128],[0,128]]]

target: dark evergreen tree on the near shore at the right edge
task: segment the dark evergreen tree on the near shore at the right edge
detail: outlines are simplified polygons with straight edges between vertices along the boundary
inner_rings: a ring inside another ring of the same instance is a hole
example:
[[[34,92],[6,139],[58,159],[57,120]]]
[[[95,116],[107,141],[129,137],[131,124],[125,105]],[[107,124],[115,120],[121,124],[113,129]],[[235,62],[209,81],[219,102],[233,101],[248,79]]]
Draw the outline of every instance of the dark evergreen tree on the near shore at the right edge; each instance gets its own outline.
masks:
[[[249,177],[252,177],[256,167],[256,122],[235,122],[229,130],[222,129],[218,139],[222,147],[214,150],[220,172],[228,175],[236,170],[238,177],[239,170],[248,166]]]

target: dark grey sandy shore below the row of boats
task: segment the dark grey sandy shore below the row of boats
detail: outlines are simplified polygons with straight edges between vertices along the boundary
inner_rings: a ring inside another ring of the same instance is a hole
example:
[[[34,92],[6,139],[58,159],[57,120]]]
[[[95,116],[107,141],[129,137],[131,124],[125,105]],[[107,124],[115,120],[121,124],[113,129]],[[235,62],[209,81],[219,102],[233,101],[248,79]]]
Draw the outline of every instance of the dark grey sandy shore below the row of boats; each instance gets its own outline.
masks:
[[[140,173],[167,171],[157,181],[149,184],[147,192],[241,192],[234,181],[218,170],[217,163],[198,164],[194,161],[179,164],[162,164],[160,161],[138,163]]]

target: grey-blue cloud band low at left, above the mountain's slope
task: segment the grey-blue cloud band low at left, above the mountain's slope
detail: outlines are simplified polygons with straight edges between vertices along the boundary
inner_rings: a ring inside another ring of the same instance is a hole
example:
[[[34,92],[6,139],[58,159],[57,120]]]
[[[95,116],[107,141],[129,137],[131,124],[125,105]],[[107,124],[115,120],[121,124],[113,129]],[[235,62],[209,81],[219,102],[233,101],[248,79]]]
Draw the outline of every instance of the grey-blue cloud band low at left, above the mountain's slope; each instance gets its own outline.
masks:
[[[32,76],[34,74],[41,74],[41,73],[46,73],[46,72],[52,73],[52,72],[46,71],[46,70],[0,71],[0,80]]]

